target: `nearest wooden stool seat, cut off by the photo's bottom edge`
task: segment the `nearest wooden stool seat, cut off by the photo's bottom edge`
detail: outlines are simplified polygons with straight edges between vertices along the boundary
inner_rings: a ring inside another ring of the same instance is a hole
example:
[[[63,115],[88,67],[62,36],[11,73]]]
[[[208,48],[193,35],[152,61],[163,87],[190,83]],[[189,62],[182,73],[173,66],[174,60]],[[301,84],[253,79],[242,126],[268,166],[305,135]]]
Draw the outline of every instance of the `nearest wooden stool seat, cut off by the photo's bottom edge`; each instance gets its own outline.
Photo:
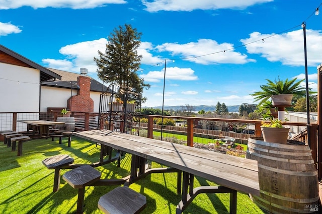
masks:
[[[127,186],[119,186],[101,196],[98,207],[104,213],[139,213],[146,206],[146,197]]]

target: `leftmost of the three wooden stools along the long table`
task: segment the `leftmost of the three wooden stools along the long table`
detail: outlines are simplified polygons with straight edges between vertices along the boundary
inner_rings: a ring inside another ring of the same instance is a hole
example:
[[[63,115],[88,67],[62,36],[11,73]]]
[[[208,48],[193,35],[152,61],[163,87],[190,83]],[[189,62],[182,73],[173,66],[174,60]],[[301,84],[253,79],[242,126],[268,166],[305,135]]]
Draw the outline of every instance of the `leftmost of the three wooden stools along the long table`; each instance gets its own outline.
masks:
[[[42,161],[42,163],[48,169],[55,169],[53,192],[56,192],[59,189],[61,167],[69,165],[73,162],[74,162],[74,158],[66,154],[58,154],[52,157],[48,157]]]

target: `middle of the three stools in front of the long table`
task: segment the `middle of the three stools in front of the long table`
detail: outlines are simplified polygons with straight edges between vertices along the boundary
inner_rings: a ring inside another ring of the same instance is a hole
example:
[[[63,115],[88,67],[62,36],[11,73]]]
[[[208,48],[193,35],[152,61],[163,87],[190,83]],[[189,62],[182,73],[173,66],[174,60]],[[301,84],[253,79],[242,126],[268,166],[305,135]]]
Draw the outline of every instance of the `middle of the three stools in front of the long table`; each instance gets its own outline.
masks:
[[[101,172],[90,165],[79,166],[63,174],[64,179],[73,188],[78,189],[76,213],[83,213],[85,186],[99,180]]]

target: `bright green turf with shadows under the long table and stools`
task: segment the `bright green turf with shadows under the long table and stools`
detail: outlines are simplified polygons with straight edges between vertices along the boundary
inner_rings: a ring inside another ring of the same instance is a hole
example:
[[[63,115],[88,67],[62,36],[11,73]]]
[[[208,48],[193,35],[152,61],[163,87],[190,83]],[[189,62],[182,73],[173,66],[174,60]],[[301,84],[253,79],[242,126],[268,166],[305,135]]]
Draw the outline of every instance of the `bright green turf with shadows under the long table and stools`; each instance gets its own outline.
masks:
[[[24,142],[23,155],[17,156],[7,145],[0,143],[0,213],[75,213],[77,189],[73,189],[63,179],[60,189],[53,192],[54,170],[47,169],[42,160],[57,154],[72,156],[74,163],[92,163],[99,159],[100,146],[72,137],[71,147],[67,139],[63,144],[58,140],[39,139]],[[120,178],[129,174],[131,155],[116,163],[97,167],[102,178]],[[238,164],[238,163],[236,163]],[[152,167],[160,165],[152,162]],[[61,175],[69,169],[61,170]],[[130,185],[130,188],[146,196],[147,206],[141,213],[175,213],[181,200],[177,192],[177,174],[164,173],[148,175]],[[215,185],[213,182],[195,177],[195,186]],[[103,213],[97,202],[103,194],[116,186],[88,186],[85,193],[84,213]],[[200,194],[184,213],[229,213],[229,194]],[[263,213],[249,196],[238,192],[237,213]]]

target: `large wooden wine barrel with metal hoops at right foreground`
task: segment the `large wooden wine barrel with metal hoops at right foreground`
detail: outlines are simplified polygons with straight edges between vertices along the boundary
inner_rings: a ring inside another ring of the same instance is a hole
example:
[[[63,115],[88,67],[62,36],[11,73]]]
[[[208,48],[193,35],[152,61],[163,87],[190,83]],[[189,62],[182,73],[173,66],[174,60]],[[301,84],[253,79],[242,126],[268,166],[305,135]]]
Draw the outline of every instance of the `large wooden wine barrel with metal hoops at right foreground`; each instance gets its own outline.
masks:
[[[246,157],[258,161],[260,196],[251,198],[259,207],[270,213],[311,213],[318,207],[317,172],[308,145],[252,137]]]

